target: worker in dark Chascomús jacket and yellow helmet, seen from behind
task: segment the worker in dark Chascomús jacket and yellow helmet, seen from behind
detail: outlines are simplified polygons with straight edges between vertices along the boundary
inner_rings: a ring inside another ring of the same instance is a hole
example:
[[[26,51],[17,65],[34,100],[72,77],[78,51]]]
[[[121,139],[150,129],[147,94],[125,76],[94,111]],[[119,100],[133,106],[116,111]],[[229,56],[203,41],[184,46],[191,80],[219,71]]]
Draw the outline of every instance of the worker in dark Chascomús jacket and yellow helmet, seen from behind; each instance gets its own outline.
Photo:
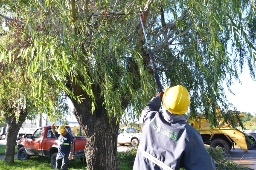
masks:
[[[163,112],[159,112],[163,99]],[[190,96],[181,85],[153,97],[142,112],[133,170],[215,170],[200,133],[185,122]]]

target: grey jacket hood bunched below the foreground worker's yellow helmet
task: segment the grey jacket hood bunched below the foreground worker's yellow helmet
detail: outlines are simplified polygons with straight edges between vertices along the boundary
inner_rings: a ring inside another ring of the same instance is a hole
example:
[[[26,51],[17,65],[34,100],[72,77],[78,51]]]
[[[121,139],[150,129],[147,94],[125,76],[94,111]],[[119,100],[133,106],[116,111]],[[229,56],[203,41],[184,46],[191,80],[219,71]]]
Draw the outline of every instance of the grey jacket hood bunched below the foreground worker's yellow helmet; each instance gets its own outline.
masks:
[[[163,108],[163,118],[166,120],[166,122],[169,123],[175,123],[178,121],[186,121],[187,119],[189,119],[189,116],[186,114],[182,114],[182,115],[177,115],[174,113],[170,113],[166,107],[162,107]]]

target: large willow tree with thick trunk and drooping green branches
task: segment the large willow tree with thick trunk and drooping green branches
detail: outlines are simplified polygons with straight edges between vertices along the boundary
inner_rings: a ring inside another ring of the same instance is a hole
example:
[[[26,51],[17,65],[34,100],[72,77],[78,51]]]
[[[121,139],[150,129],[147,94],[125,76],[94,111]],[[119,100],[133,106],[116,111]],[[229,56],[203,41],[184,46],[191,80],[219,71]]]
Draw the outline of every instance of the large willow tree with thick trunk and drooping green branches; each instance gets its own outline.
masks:
[[[40,93],[41,85],[67,93],[87,137],[88,170],[119,169],[120,118],[124,114],[139,118],[156,94],[140,8],[162,84],[188,88],[189,116],[203,113],[211,126],[223,118],[228,122],[225,111],[232,104],[222,83],[230,87],[233,78],[239,81],[245,65],[254,79],[255,0],[3,0],[1,4],[2,22],[23,34],[12,37],[22,43],[18,47],[6,42],[10,46],[2,50],[0,62],[26,63],[35,79],[33,94]],[[216,103],[221,112],[215,111]]]

